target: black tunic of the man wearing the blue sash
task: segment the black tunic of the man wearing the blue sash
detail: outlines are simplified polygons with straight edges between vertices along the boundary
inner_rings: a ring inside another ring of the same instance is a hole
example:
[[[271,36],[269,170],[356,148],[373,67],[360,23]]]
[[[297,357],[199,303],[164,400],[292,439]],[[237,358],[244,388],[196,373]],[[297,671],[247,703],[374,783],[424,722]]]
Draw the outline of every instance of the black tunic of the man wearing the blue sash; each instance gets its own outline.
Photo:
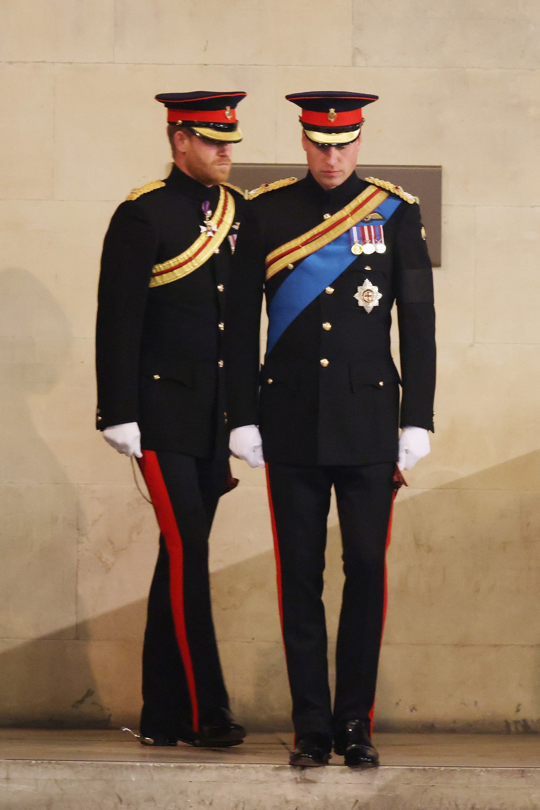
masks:
[[[385,224],[384,254],[360,255],[288,326],[259,373],[259,320],[292,270],[267,283],[265,258],[367,188],[355,173],[326,192],[310,173],[247,205],[227,297],[229,427],[259,424],[268,462],[345,465],[398,458],[399,383],[390,352],[398,304],[401,424],[433,429],[436,348],[432,265],[417,203],[402,201]],[[355,293],[379,288],[366,312]],[[324,329],[322,324],[330,324]],[[328,360],[322,365],[321,360]],[[271,381],[271,382],[270,382]],[[259,391],[260,388],[260,391]]]

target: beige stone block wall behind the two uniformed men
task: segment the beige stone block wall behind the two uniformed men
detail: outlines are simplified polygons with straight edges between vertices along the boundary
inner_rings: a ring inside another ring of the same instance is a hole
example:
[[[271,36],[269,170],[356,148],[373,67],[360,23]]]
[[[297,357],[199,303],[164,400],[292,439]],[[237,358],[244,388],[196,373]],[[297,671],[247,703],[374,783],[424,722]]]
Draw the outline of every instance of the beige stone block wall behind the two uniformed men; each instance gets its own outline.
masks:
[[[365,164],[442,164],[432,454],[389,552],[379,727],[540,730],[540,6],[2,0],[0,722],[136,725],[155,521],[93,428],[100,245],[163,177],[155,92],[249,92],[242,162],[303,160],[285,92],[380,94]],[[287,727],[265,484],[211,539],[236,714]],[[330,518],[325,602],[341,586]]]

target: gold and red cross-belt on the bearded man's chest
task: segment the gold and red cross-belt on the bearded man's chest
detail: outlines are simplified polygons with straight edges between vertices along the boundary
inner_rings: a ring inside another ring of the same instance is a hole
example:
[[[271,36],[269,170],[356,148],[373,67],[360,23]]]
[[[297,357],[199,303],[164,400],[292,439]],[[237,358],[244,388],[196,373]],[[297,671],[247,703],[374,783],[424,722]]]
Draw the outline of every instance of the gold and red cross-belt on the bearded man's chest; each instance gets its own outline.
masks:
[[[234,215],[234,198],[230,191],[220,185],[219,202],[215,214],[210,220],[210,229],[203,231],[200,237],[193,242],[193,245],[190,245],[180,256],[170,258],[162,264],[154,265],[150,286],[159,287],[161,284],[183,279],[185,275],[193,273],[194,270],[207,262],[227,237],[227,233],[234,221]]]

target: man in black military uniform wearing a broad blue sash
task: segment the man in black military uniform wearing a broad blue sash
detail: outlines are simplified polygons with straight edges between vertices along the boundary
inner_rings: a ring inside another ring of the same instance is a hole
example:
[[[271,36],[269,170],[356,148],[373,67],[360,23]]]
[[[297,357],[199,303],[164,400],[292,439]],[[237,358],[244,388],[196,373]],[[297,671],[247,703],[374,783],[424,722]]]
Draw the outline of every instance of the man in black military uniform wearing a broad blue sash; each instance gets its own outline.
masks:
[[[432,266],[415,198],[355,173],[362,108],[376,96],[287,98],[302,109],[309,172],[261,186],[244,217],[227,300],[230,447],[252,466],[266,459],[291,765],[324,765],[332,745],[347,765],[377,765],[372,707],[396,462],[410,469],[426,455],[433,429]],[[394,301],[402,381],[390,353]],[[334,711],[321,601],[332,485],[346,575]]]

